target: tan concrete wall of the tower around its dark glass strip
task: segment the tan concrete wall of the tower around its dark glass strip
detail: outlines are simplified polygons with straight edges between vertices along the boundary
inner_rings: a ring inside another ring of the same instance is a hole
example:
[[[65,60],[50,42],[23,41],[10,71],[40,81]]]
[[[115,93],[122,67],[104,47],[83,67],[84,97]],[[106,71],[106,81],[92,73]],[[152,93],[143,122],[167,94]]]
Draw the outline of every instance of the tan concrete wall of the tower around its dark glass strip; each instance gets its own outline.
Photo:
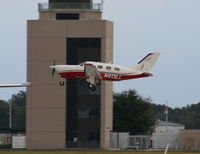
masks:
[[[66,88],[49,66],[66,63],[66,38],[101,38],[102,62],[112,61],[113,23],[105,20],[29,20],[27,42],[27,148],[66,144]],[[112,82],[101,82],[101,147],[110,147]]]

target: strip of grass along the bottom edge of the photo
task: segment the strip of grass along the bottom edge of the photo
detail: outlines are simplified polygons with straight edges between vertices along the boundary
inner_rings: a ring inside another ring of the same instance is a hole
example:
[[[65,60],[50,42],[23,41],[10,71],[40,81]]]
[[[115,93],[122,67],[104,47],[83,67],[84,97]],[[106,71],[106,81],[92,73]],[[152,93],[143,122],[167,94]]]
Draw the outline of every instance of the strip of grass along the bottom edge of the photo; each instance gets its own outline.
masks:
[[[168,154],[200,154],[200,151],[168,151]],[[0,154],[164,154],[164,151],[103,151],[103,150],[0,150]]]

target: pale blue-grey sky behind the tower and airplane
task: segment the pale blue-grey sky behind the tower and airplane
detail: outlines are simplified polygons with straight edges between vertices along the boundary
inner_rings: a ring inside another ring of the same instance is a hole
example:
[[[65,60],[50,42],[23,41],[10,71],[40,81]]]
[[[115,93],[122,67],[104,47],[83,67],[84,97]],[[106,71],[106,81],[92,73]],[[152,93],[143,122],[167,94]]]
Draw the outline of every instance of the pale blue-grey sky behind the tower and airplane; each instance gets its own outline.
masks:
[[[0,83],[26,81],[26,21],[38,19],[37,3],[0,1]],[[114,22],[114,63],[132,66],[147,53],[161,56],[153,77],[114,83],[153,103],[183,107],[200,102],[200,1],[105,0],[103,19]],[[0,89],[8,100],[23,88]]]

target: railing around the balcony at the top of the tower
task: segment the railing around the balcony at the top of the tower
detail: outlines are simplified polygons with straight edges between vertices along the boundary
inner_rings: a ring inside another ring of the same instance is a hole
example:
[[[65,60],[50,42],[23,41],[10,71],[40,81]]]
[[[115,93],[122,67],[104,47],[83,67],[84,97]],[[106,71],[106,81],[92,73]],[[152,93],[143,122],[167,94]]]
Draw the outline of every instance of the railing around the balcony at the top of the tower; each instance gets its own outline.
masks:
[[[39,3],[39,11],[55,10],[84,10],[84,11],[101,11],[102,3]]]

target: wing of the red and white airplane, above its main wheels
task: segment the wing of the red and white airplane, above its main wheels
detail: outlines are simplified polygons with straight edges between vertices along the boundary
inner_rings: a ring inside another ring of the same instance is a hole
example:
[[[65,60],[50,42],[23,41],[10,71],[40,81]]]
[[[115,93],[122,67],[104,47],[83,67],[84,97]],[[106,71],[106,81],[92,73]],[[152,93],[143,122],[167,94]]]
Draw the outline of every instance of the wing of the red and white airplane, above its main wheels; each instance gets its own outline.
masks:
[[[85,64],[85,76],[87,77],[87,82],[92,85],[96,85],[102,79],[99,71],[92,64]]]

